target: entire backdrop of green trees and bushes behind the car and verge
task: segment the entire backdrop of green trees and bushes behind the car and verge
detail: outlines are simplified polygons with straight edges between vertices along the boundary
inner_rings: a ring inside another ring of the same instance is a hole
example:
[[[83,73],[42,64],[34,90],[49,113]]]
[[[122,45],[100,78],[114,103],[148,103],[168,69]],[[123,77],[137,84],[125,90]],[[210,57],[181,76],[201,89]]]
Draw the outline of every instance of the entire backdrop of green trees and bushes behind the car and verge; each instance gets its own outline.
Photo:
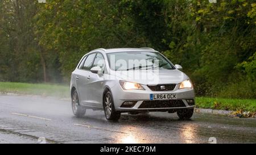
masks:
[[[92,49],[152,47],[196,95],[256,98],[253,1],[3,0],[0,12],[1,81],[68,82]]]

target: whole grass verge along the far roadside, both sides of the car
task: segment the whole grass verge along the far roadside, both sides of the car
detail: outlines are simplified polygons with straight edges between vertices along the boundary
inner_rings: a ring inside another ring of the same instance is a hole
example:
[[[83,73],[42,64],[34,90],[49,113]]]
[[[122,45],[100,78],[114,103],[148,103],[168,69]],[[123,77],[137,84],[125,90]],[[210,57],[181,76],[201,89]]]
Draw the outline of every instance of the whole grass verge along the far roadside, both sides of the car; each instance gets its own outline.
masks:
[[[32,94],[69,98],[69,86],[55,84],[32,84],[16,82],[0,82],[1,93]],[[226,99],[196,97],[197,108],[218,110],[242,110],[256,112],[256,99]]]

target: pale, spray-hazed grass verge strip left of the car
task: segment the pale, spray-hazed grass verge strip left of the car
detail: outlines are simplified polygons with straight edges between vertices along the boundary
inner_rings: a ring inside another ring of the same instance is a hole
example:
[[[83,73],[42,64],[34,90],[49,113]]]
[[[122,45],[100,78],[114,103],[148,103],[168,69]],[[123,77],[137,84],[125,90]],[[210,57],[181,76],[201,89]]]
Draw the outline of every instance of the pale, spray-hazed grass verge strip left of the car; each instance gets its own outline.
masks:
[[[0,92],[68,98],[69,86],[56,85],[51,83],[34,84],[18,82],[0,82]]]

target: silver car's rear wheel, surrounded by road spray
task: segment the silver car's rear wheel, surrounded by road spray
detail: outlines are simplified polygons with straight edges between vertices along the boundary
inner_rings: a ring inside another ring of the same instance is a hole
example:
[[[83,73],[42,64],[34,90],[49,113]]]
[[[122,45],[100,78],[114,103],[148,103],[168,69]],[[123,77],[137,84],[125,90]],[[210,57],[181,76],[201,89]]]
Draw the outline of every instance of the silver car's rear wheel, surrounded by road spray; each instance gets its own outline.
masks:
[[[86,112],[86,108],[80,106],[79,97],[77,95],[76,90],[74,90],[72,93],[72,111],[73,114],[79,118],[84,116]]]

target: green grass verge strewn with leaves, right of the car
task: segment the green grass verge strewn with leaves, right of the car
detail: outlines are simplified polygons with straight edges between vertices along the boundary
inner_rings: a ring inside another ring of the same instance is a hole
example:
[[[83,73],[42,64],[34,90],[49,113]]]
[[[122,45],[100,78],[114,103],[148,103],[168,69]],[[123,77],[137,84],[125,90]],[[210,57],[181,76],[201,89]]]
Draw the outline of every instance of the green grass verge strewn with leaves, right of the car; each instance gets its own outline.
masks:
[[[217,110],[242,110],[256,112],[256,99],[196,97],[196,107]]]

